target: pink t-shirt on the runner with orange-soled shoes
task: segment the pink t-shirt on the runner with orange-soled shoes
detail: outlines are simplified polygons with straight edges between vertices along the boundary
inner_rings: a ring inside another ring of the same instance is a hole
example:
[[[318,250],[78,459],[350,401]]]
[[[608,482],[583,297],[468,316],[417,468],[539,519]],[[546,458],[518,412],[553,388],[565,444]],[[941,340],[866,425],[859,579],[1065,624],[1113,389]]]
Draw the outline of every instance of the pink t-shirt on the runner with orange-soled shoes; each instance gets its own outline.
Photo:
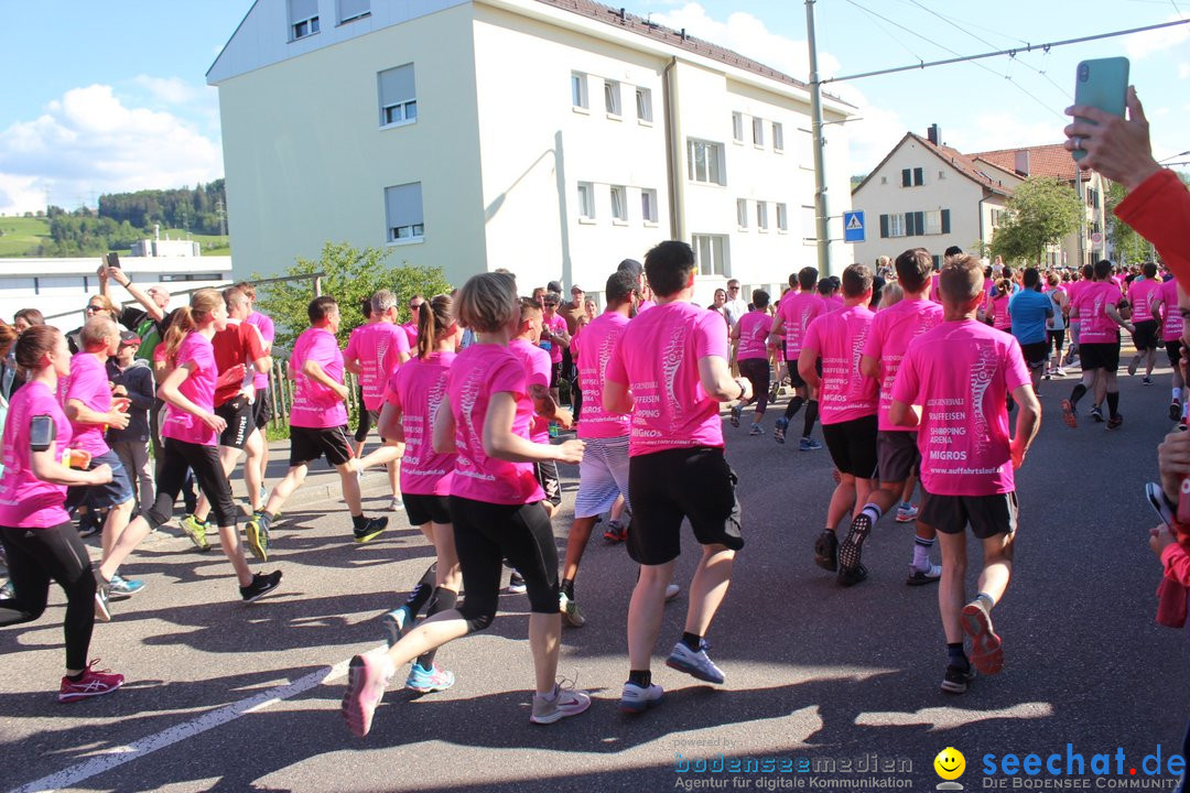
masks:
[[[921,405],[921,486],[934,496],[1012,492],[1008,394],[1029,384],[1015,338],[983,322],[942,322],[909,342],[892,398]]]

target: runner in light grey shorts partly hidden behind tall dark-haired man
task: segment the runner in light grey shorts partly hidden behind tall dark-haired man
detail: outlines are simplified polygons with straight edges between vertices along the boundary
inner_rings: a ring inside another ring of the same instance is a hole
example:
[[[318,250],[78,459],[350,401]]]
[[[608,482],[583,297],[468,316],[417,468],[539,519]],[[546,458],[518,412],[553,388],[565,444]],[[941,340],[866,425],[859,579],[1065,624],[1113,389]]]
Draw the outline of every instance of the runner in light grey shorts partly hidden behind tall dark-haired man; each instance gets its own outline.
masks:
[[[603,384],[607,363],[628,327],[637,295],[637,279],[632,273],[622,270],[612,273],[603,290],[607,310],[583,328],[583,342],[576,358],[587,405],[578,424],[578,439],[587,448],[578,467],[575,522],[566,541],[558,600],[563,621],[572,628],[582,628],[587,622],[575,599],[575,579],[587,541],[600,516],[614,511],[615,504],[628,497],[628,416],[605,410]],[[608,531],[613,530],[609,527]],[[619,533],[615,541],[621,541]]]

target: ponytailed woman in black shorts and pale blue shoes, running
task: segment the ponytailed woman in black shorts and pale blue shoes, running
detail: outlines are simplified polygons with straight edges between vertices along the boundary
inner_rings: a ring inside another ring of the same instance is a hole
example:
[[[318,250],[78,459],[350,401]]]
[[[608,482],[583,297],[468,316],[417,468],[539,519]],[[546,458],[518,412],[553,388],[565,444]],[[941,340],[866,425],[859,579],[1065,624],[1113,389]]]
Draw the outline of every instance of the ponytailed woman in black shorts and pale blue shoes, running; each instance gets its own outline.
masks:
[[[426,616],[455,608],[463,581],[450,523],[450,486],[455,454],[434,452],[434,413],[446,394],[446,376],[455,363],[458,325],[449,295],[424,301],[418,309],[416,357],[396,370],[384,391],[380,433],[405,443],[401,458],[401,497],[409,523],[434,546],[437,561],[430,566],[403,605],[384,615],[389,646],[396,644],[413,628],[418,612]],[[361,467],[367,464],[361,461]],[[424,653],[409,669],[405,687],[419,693],[445,691],[455,675],[434,663],[434,653]]]

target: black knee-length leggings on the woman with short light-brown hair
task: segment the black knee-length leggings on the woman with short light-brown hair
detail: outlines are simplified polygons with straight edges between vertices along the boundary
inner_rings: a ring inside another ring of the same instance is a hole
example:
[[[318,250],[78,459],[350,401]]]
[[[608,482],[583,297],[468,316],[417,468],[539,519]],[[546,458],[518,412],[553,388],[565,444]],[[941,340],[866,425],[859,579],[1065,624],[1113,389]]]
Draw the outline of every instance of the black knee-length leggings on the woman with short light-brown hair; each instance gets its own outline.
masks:
[[[558,613],[558,547],[540,502],[489,504],[451,496],[450,514],[468,632],[483,630],[496,616],[505,559],[525,579],[530,610]]]

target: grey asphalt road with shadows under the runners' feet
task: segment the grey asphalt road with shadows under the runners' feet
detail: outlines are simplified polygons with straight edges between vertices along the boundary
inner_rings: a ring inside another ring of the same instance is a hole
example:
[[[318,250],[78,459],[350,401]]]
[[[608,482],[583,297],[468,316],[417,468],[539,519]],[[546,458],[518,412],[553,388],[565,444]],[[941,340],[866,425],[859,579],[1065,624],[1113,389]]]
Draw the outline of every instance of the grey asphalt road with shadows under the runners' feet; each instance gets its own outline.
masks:
[[[282,589],[252,606],[237,602],[218,550],[198,554],[168,528],[150,537],[123,571],[148,589],[117,604],[92,644],[100,667],[127,678],[113,696],[54,701],[58,593],[38,623],[0,630],[0,787],[546,793],[839,789],[875,779],[931,789],[940,781],[934,756],[953,745],[967,763],[959,782],[976,789],[998,783],[984,779],[984,755],[1061,753],[1064,766],[1067,743],[1088,773],[1092,755],[1111,755],[1100,787],[1152,781],[1141,761],[1160,748],[1166,762],[1190,712],[1186,638],[1153,622],[1160,571],[1142,486],[1155,478],[1154,447],[1170,429],[1160,372],[1153,388],[1121,378],[1126,421],[1114,433],[1063,426],[1058,401],[1073,378],[1042,384],[1041,435],[1019,474],[1015,578],[996,609],[1006,668],[962,697],[938,687],[946,656],[935,589],[904,585],[910,529],[882,521],[865,550],[871,578],[839,589],[810,550],[833,487],[827,452],[800,453],[725,423],[747,546],[709,635],[724,686],[664,667],[683,592],[668,609],[653,667],[666,701],[639,717],[618,711],[634,568],[622,547],[593,540],[577,587],[588,623],[565,631],[560,662],[593,691],[587,713],[528,723],[528,604],[503,594],[488,631],[439,653],[458,678],[452,690],[414,697],[394,686],[371,735],[355,739],[338,713],[343,665],[380,643],[377,617],[401,602],[396,592],[418,579],[431,549],[403,514],[356,546],[343,505],[319,496],[287,511],[264,566],[284,571]],[[564,470],[559,548],[575,473]],[[381,509],[387,499],[368,482],[367,506]],[[691,546],[679,562],[683,586]],[[718,772],[719,753],[760,770]],[[699,772],[700,760],[709,770]],[[845,761],[852,770],[841,770]],[[825,770],[832,762],[834,773]],[[897,773],[864,773],[873,762]],[[809,773],[797,773],[803,764]],[[1041,779],[1050,778],[1029,781]],[[1169,786],[1167,774],[1154,779]]]

